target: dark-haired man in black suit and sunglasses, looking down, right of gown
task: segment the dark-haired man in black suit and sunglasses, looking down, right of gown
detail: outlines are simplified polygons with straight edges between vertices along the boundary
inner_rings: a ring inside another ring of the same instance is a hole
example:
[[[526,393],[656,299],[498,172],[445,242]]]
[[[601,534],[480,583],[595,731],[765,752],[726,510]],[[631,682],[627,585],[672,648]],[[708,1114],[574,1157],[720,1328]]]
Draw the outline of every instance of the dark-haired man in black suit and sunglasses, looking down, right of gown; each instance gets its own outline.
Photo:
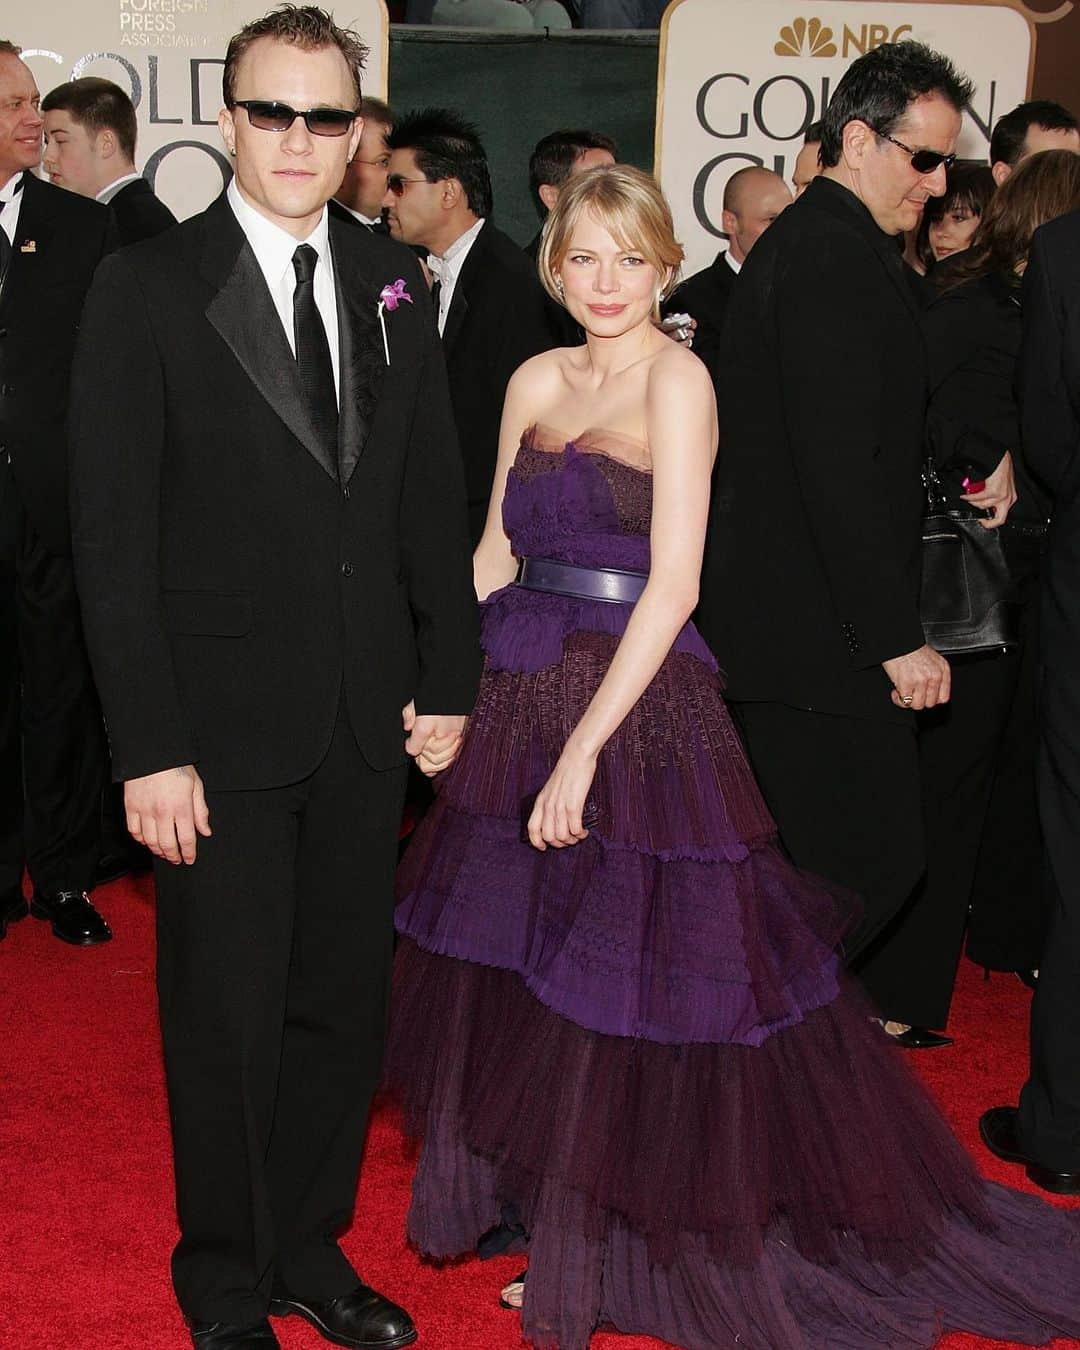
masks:
[[[755,244],[720,354],[699,622],[782,841],[863,899],[850,959],[922,872],[913,711],[949,697],[919,621],[926,373],[895,239],[945,190],[969,96],[919,43],[849,66],[824,173]]]

